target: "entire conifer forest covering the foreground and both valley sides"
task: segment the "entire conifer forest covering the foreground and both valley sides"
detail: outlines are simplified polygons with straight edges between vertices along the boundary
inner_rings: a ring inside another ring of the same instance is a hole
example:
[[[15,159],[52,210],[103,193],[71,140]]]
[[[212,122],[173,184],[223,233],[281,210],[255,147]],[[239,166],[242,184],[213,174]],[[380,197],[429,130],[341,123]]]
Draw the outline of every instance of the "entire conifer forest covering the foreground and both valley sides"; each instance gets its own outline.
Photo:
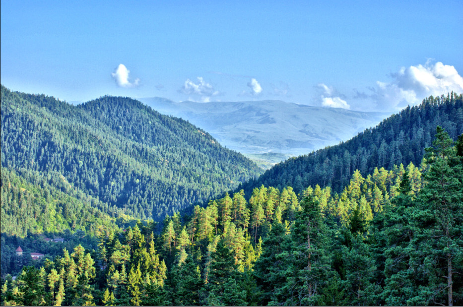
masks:
[[[1,90],[2,306],[463,304],[463,95],[258,178],[131,99]]]

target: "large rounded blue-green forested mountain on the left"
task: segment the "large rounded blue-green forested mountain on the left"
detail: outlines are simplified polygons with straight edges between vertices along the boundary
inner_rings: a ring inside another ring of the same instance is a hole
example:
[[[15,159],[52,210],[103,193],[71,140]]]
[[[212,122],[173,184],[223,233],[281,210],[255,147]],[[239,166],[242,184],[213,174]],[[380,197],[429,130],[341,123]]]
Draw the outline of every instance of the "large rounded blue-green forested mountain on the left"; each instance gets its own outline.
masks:
[[[47,182],[61,175],[102,208],[154,220],[261,172],[200,128],[130,98],[106,96],[76,107],[3,86],[1,167]]]

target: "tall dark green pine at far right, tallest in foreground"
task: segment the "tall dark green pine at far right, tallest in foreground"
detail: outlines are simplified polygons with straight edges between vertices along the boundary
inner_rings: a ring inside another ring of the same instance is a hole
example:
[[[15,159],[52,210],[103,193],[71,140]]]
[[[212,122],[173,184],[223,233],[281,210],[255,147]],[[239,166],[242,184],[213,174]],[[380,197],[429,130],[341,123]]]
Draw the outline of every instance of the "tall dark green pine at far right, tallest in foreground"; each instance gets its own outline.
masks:
[[[461,283],[455,287],[454,275],[462,269],[463,259],[463,161],[440,126],[426,152],[429,168],[418,196],[415,221],[420,232],[414,243],[427,271],[427,285],[412,301],[453,306],[454,293],[460,297],[462,291]]]

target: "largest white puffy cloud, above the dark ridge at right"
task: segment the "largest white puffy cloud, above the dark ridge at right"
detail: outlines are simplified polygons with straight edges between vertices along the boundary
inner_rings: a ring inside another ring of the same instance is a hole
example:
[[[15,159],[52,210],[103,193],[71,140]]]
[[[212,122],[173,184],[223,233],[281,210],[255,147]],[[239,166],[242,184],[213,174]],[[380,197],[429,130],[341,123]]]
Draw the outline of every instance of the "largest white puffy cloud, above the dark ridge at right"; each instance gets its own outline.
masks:
[[[380,109],[396,111],[408,104],[419,104],[430,95],[463,92],[462,76],[454,66],[442,62],[427,61],[424,65],[401,67],[391,76],[392,82],[377,81],[376,86],[370,88],[373,92],[370,97]]]

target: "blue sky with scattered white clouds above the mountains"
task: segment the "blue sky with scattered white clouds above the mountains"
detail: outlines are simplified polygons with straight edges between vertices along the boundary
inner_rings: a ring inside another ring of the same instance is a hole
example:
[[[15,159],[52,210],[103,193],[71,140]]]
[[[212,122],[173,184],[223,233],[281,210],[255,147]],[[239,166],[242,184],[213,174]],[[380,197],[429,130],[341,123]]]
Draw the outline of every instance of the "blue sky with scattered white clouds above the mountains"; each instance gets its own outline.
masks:
[[[280,99],[395,111],[463,92],[461,0],[0,6],[1,83],[66,101]]]

